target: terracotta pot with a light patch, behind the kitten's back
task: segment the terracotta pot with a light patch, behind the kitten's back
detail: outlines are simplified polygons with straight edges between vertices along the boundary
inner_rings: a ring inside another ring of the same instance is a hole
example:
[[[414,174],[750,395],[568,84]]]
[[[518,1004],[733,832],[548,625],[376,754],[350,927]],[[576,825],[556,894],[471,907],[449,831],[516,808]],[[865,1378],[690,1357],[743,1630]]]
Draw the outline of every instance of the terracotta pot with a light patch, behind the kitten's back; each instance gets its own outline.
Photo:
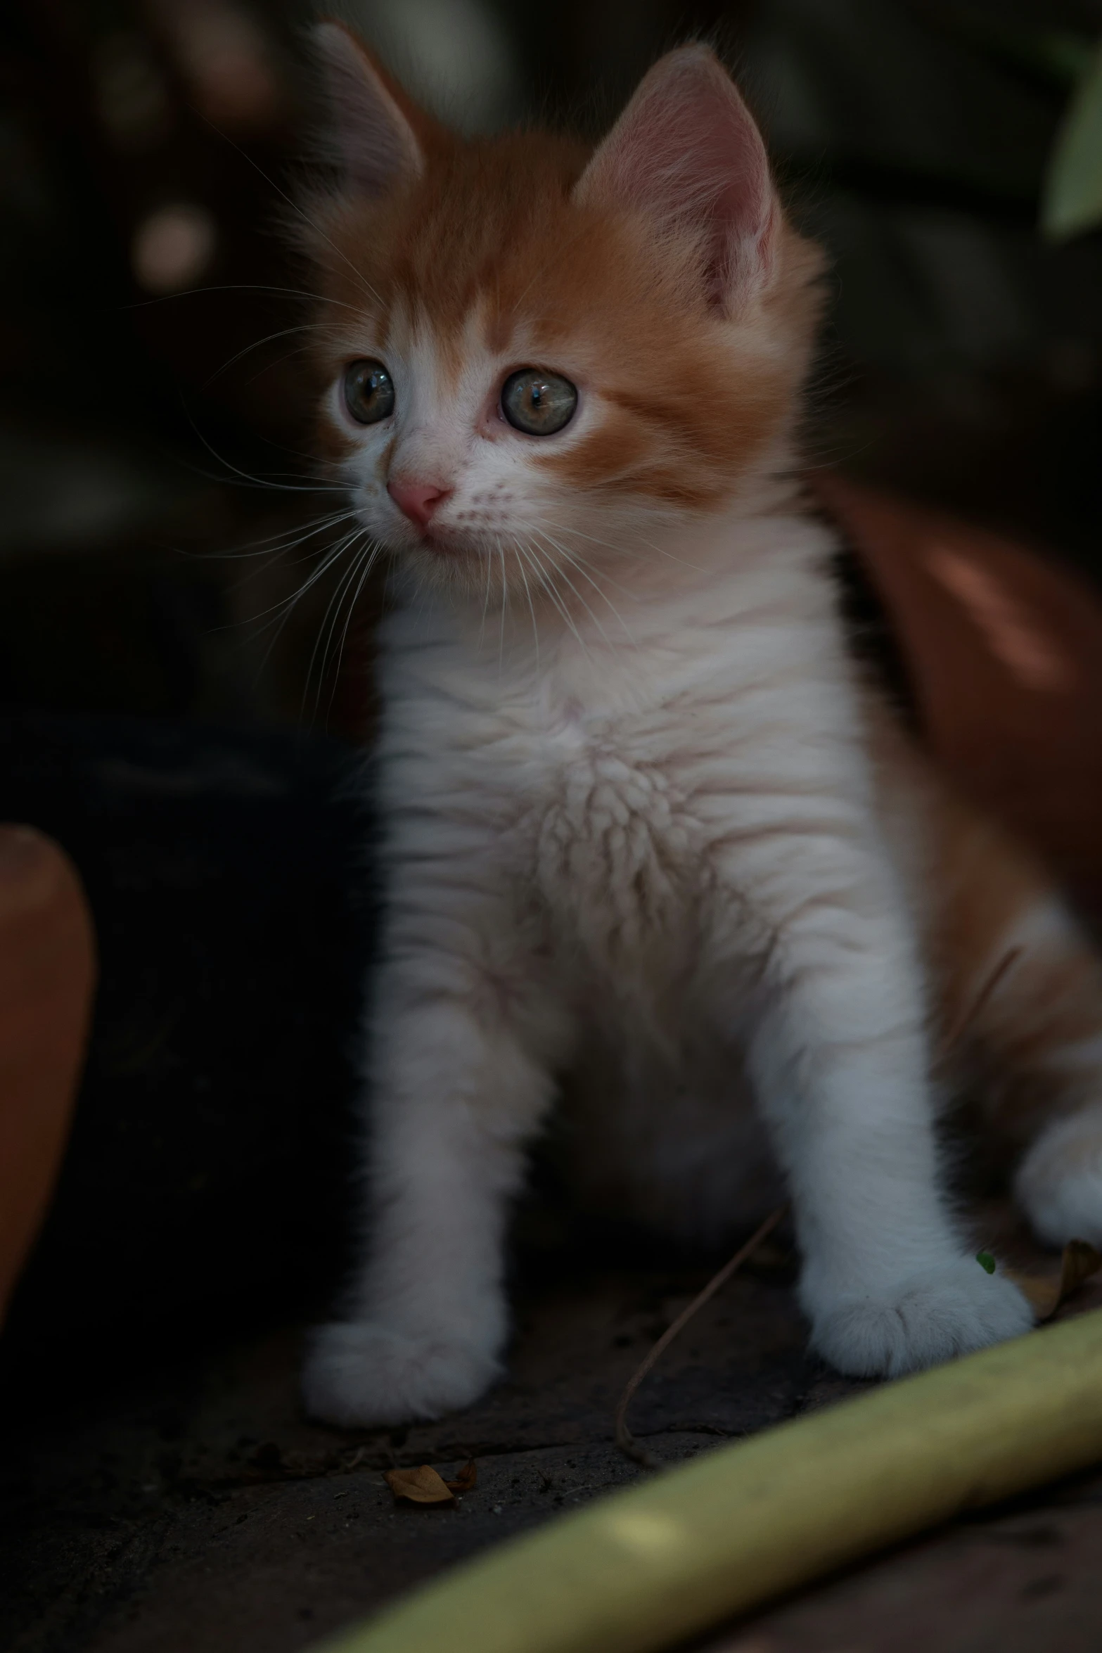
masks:
[[[1102,919],[1102,598],[1066,564],[839,478],[816,481],[887,610],[955,784]]]

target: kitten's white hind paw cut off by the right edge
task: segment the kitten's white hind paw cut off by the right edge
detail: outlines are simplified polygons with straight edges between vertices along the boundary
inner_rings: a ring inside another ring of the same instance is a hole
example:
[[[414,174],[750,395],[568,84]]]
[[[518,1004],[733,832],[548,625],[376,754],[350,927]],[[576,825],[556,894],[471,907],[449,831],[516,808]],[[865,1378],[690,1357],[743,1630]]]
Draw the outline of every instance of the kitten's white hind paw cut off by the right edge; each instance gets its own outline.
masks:
[[[1021,1162],[1014,1192],[1043,1240],[1102,1246],[1102,1109],[1049,1126]]]

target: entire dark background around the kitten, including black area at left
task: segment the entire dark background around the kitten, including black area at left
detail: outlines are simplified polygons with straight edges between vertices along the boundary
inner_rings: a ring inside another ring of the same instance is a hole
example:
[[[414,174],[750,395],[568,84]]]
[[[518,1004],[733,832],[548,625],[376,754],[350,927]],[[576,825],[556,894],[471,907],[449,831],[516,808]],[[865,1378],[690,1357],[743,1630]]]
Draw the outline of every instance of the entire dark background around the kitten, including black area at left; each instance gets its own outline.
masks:
[[[596,134],[654,56],[712,40],[833,260],[810,463],[1102,577],[1102,235],[1038,228],[1102,0],[339,10],[469,127]],[[182,1303],[289,1312],[339,1273],[378,598],[349,613],[339,564],[297,597],[337,509],[281,230],[307,21],[292,0],[0,13],[0,817],[74,855],[102,964],[5,1349]]]

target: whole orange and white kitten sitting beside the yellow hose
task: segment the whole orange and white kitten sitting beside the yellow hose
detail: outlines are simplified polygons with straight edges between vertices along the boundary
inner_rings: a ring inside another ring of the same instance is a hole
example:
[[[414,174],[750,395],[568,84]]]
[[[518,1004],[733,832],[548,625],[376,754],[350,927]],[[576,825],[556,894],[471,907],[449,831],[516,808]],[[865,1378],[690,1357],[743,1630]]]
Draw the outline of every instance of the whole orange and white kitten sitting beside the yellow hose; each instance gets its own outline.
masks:
[[[1102,980],[851,666],[796,479],[821,260],[745,104],[687,46],[593,154],[466,141],[339,25],[319,51],[324,448],[397,603],[365,1251],[311,1412],[428,1418],[501,1372],[560,1096],[582,1182],[684,1235],[785,1187],[841,1370],[1024,1332],[943,1189],[937,1027],[981,1000],[962,1060],[1031,1144],[1024,1207],[1100,1240]]]

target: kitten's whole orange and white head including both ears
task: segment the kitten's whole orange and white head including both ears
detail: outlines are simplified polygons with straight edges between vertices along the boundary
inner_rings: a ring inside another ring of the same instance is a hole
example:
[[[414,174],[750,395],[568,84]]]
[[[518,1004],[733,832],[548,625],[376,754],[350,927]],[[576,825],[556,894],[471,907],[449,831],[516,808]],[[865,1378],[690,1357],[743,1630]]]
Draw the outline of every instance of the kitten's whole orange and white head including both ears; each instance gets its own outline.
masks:
[[[639,567],[777,464],[818,312],[760,134],[701,46],[608,137],[463,139],[317,30],[322,445],[363,526],[489,598]]]

